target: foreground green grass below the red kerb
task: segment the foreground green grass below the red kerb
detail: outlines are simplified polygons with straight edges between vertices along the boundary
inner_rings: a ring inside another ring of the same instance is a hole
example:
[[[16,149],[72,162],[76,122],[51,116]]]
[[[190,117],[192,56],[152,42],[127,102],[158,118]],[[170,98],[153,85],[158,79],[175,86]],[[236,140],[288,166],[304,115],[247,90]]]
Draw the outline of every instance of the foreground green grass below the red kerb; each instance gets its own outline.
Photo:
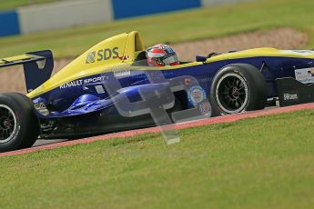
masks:
[[[314,110],[0,158],[0,208],[312,208]]]

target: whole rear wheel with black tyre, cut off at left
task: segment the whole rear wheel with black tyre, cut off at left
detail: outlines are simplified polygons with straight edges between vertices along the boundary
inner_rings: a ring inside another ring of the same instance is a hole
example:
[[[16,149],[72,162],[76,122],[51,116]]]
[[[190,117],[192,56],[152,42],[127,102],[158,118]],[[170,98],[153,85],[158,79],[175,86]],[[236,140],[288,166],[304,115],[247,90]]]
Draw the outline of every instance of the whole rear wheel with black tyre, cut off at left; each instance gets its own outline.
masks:
[[[0,152],[32,146],[39,125],[32,101],[17,93],[0,94]]]

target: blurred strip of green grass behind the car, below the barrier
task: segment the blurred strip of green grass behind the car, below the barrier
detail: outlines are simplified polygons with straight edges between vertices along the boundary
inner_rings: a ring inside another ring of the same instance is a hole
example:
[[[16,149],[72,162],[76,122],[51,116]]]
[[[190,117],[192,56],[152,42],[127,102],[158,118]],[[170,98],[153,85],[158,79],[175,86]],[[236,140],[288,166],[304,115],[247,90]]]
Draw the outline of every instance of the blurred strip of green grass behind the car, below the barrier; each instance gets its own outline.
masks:
[[[312,0],[265,0],[151,15],[101,25],[1,38],[0,57],[46,48],[52,49],[56,57],[73,57],[106,37],[133,30],[142,33],[145,45],[154,45],[289,26],[309,35],[309,48],[314,47],[313,11]]]

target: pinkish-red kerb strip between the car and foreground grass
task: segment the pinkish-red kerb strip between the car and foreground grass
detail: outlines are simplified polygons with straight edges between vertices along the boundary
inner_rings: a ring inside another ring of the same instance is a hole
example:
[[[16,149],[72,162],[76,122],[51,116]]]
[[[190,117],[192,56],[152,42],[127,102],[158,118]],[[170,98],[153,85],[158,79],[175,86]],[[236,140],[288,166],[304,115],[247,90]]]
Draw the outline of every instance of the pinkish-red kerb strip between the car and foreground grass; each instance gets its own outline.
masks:
[[[201,125],[206,125],[206,124],[230,123],[230,122],[235,122],[244,118],[258,117],[258,116],[268,115],[268,114],[289,113],[289,112],[298,111],[302,109],[314,109],[314,103],[298,104],[298,105],[279,107],[279,108],[268,108],[268,109],[264,109],[260,111],[251,111],[251,112],[242,113],[242,114],[229,114],[225,116],[212,117],[212,118],[208,118],[204,120],[176,124],[175,127],[177,130],[180,130],[187,127],[196,127],[196,126],[201,126]],[[131,137],[137,134],[159,133],[159,132],[160,132],[159,127],[151,127],[151,128],[119,132],[119,133],[114,133],[114,134],[98,135],[95,137],[77,139],[77,140],[72,140],[72,141],[37,140],[35,145],[31,148],[2,153],[0,154],[0,157],[10,156],[10,155],[19,155],[19,154],[28,154],[28,153],[33,153],[33,152],[38,152],[38,151],[43,151],[43,150],[48,150],[48,149],[55,149],[57,147],[74,145],[74,144],[87,144],[87,143],[92,143],[99,140],[107,140],[110,138],[123,138],[123,137]]]

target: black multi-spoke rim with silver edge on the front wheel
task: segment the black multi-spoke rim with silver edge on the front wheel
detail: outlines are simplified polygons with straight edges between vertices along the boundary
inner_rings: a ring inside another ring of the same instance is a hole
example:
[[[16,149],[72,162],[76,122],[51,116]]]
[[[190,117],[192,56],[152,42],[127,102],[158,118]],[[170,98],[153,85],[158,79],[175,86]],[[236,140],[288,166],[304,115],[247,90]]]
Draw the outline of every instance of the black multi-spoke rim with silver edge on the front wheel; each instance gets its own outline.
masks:
[[[248,103],[247,82],[237,74],[222,76],[216,88],[219,107],[227,114],[236,114],[244,110]]]

